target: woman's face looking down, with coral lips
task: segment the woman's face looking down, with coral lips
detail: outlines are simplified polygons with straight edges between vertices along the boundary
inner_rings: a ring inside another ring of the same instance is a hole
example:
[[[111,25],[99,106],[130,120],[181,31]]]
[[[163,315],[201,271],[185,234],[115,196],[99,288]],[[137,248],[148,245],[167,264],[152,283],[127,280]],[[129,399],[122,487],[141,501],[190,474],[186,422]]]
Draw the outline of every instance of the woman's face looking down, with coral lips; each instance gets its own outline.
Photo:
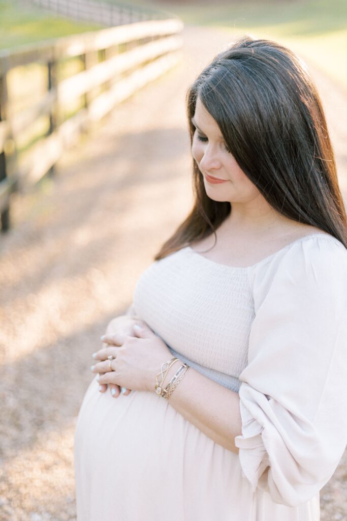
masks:
[[[260,195],[228,152],[221,130],[211,114],[197,98],[192,122],[195,126],[191,147],[192,156],[203,175],[207,195],[214,201],[248,203]],[[213,182],[209,176],[223,180]]]

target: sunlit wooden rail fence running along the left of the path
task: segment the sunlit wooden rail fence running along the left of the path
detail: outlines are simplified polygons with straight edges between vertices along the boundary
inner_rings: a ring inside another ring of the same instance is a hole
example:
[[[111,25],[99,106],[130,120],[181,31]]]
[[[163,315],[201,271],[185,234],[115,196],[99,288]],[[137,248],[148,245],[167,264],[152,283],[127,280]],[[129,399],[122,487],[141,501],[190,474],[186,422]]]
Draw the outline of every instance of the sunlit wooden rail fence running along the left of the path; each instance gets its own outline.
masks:
[[[76,135],[100,120],[118,103],[158,78],[181,58],[183,23],[179,19],[131,23],[82,33],[53,43],[0,52],[0,215],[2,230],[10,226],[11,194],[43,178]],[[83,70],[59,79],[63,60],[80,57]],[[8,75],[16,67],[41,64],[46,77],[39,100],[12,110]],[[66,114],[65,107],[80,106]],[[38,119],[48,121],[45,135],[18,155],[21,133]]]

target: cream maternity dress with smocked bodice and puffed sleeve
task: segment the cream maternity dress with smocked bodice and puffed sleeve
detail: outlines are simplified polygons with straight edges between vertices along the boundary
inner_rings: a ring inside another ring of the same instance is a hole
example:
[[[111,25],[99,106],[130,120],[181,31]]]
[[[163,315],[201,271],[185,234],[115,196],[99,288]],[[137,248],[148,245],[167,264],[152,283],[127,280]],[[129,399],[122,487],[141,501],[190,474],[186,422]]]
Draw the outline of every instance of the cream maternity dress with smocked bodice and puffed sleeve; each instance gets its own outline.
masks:
[[[93,379],[75,432],[78,521],[318,521],[347,443],[343,244],[313,233],[246,268],[187,246],[144,271],[133,308],[239,392],[239,454],[155,392],[114,399]]]

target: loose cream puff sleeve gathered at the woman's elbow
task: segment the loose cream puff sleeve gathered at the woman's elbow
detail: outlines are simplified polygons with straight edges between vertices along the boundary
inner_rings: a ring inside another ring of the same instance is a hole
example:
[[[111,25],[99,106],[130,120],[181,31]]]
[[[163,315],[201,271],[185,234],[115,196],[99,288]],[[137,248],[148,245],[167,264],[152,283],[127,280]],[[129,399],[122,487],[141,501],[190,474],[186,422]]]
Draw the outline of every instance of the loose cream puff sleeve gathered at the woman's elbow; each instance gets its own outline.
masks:
[[[347,250],[331,236],[305,238],[250,276],[235,444],[253,490],[297,506],[327,483],[347,444]]]

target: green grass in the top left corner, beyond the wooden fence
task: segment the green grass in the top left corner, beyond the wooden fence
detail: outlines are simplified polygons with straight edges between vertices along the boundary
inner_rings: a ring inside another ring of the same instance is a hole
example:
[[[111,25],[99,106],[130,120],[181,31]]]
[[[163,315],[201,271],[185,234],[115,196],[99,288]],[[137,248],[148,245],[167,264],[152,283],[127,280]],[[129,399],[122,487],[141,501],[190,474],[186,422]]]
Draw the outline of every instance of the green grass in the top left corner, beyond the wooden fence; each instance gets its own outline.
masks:
[[[0,14],[0,49],[100,29],[93,23],[75,22],[8,0],[0,0]]]

